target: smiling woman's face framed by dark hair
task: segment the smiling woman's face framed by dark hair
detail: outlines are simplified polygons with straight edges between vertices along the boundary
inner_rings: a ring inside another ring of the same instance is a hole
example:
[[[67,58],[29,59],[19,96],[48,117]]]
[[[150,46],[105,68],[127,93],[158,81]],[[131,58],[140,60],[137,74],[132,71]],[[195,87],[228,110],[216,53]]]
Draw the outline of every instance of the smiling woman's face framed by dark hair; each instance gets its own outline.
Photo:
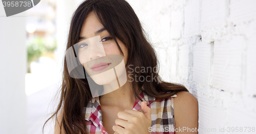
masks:
[[[119,39],[117,42],[124,56],[121,55],[116,42],[104,29],[95,13],[90,12],[83,22],[77,43],[78,58],[84,69],[98,85],[117,82],[117,77],[118,79],[121,78],[124,73],[125,79],[119,79],[119,81],[126,80],[125,64],[128,53]],[[120,86],[122,85],[120,84]]]

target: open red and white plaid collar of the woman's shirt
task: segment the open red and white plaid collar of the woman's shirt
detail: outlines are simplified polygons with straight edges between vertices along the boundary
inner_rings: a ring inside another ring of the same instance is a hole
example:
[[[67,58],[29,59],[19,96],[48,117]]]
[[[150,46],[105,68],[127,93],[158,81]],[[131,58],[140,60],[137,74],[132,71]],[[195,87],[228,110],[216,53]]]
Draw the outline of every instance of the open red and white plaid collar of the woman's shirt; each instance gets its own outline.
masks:
[[[144,101],[144,102],[147,104],[147,106],[149,106],[149,107],[150,107],[150,104],[151,104],[152,102],[154,102],[155,99],[156,99],[155,97],[149,96],[149,95],[145,94],[145,93],[142,92],[142,91],[140,91],[139,97],[140,97],[141,100]],[[140,105],[140,103],[142,102],[141,100],[140,100],[139,98],[137,98],[137,100],[136,100],[136,102],[135,102],[135,104],[134,104],[134,106],[133,106],[133,110],[141,111],[141,105]],[[98,114],[102,115],[102,114],[101,114],[101,109],[100,109],[99,96],[92,98],[92,99],[88,102],[87,106],[84,107],[84,109],[83,109],[83,113],[86,113],[85,119],[86,119],[87,121],[91,120],[92,122],[94,122],[94,120],[95,120],[94,117],[95,117],[96,114],[97,114],[97,115],[98,115]]]

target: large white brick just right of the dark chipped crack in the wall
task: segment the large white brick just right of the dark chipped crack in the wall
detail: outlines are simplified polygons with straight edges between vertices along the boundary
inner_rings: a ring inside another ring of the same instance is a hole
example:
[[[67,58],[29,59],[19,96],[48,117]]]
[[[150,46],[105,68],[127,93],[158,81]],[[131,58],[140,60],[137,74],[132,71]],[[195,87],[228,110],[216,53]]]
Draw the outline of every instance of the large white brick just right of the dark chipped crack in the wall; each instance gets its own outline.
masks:
[[[214,43],[211,86],[230,92],[241,91],[245,43],[242,36]]]

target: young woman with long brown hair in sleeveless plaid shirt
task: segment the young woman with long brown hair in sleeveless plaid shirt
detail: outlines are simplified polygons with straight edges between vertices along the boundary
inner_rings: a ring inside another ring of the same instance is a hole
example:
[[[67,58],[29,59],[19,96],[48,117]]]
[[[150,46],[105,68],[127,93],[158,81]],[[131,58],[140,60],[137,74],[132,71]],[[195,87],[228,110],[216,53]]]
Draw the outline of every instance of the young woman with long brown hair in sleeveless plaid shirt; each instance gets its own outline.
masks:
[[[163,82],[157,64],[127,2],[84,1],[70,25],[54,133],[198,133],[197,99]]]

